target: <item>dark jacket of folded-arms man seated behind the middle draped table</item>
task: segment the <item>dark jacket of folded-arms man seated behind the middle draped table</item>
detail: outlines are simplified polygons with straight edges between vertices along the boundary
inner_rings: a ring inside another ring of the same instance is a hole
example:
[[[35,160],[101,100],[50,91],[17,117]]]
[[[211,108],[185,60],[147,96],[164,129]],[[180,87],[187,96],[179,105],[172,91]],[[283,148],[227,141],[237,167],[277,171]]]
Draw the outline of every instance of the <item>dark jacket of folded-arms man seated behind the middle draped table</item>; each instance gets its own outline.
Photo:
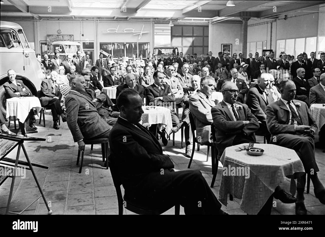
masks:
[[[145,88],[146,96],[148,100],[147,103],[149,103],[149,105],[152,106],[164,106],[172,109],[171,106],[166,106],[164,102],[175,101],[175,95],[172,93],[172,90],[170,89],[169,85],[162,84],[162,87],[164,87],[164,89],[159,90],[159,88],[155,84],[152,84]],[[161,100],[155,101],[155,98],[157,97],[162,97],[162,101]]]

